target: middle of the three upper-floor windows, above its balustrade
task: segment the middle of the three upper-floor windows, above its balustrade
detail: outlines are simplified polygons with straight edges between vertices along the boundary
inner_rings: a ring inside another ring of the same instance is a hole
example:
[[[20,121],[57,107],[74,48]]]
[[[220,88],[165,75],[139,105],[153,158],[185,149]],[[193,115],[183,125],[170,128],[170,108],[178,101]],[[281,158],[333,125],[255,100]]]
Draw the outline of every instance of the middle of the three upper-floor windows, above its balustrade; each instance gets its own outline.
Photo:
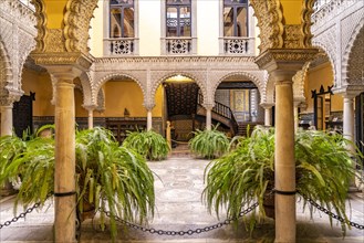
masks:
[[[191,0],[167,0],[167,38],[191,36]]]

